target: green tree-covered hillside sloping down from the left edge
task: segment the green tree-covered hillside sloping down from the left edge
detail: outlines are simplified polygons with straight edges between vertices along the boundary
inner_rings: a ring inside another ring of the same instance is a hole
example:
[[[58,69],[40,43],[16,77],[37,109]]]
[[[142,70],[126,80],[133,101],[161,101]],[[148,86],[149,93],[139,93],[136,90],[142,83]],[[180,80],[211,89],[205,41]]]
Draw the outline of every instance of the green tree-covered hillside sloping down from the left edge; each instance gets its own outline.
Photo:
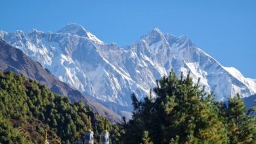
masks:
[[[41,143],[46,130],[50,143],[74,143],[83,139],[89,117],[98,141],[105,120],[83,103],[72,104],[12,72],[0,72],[0,109],[0,143]]]

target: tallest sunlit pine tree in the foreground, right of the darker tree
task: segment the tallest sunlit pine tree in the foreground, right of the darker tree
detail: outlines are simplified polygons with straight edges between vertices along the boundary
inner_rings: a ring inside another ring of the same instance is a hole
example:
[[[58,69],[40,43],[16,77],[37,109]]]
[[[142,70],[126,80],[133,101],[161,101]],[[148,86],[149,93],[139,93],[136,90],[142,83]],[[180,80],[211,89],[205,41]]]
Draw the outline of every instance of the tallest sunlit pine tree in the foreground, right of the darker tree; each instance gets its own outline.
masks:
[[[163,143],[171,140],[166,137],[177,136],[180,143],[227,141],[224,124],[215,113],[212,95],[207,95],[204,88],[200,90],[199,82],[194,84],[189,73],[186,79],[182,75],[178,79],[173,71],[158,82],[154,91],[159,97],[156,106],[160,107],[158,114],[162,117],[160,138],[165,140]]]

